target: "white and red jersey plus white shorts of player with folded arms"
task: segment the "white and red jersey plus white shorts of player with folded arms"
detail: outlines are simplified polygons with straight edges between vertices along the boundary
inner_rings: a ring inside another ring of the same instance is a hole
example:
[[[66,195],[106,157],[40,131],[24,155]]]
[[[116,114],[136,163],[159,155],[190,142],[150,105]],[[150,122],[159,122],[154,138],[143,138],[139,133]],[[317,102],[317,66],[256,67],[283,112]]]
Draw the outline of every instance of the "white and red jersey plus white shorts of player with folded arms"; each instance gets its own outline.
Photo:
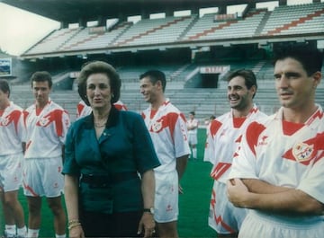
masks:
[[[302,190],[324,203],[324,113],[304,124],[270,119],[251,123],[234,157],[229,178],[257,179]],[[260,222],[262,221],[262,222]],[[251,227],[254,229],[251,230]],[[323,237],[324,216],[292,216],[249,210],[239,237]]]

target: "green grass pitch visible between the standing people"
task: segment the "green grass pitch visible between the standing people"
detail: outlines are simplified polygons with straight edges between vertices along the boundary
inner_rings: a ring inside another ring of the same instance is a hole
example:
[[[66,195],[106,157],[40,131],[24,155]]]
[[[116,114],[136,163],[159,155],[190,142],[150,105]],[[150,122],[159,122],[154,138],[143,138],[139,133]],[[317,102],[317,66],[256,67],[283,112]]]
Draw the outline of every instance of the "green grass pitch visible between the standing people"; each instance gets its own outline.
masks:
[[[179,198],[180,216],[178,221],[178,231],[181,237],[216,237],[208,226],[209,201],[211,198],[212,181],[209,176],[211,163],[202,162],[203,148],[205,142],[205,130],[198,132],[198,160],[189,161],[181,185],[184,194]],[[23,190],[20,190],[19,198],[23,204],[26,221],[27,202],[23,197]],[[42,201],[41,207],[41,227],[40,237],[54,237],[53,216],[46,203]],[[4,233],[4,216],[0,210],[0,235]]]

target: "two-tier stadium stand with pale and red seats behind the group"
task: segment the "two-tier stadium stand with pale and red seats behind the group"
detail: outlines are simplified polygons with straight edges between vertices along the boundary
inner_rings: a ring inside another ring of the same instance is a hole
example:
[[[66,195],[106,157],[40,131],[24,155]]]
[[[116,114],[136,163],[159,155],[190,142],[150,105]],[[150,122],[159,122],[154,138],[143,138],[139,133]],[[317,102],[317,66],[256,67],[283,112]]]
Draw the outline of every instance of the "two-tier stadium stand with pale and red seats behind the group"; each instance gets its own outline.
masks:
[[[208,1],[199,3],[202,2]],[[214,2],[223,4],[222,7],[227,4],[222,0]],[[211,114],[218,116],[229,109],[227,84],[223,81],[226,70],[250,68],[256,73],[259,84],[255,101],[271,114],[279,107],[269,60],[272,50],[281,44],[296,42],[317,47],[317,40],[324,40],[324,3],[316,0],[312,4],[279,4],[274,10],[268,10],[257,8],[251,1],[232,2],[245,2],[247,6],[242,13],[231,14],[229,18],[221,11],[200,16],[197,9],[190,15],[174,16],[168,9],[165,18],[148,19],[146,13],[134,23],[121,17],[112,25],[80,24],[69,29],[67,24],[62,24],[61,29],[50,32],[21,57],[33,62],[29,62],[33,64],[32,70],[48,70],[54,75],[51,98],[69,111],[72,120],[80,99],[71,72],[77,75],[86,61],[96,59],[117,68],[122,80],[121,101],[130,110],[139,112],[148,106],[139,93],[139,75],[157,68],[166,73],[166,96],[180,110],[184,113],[194,110],[199,119],[209,118]],[[200,6],[194,3],[196,8]],[[164,4],[173,7],[171,2]],[[160,9],[150,9],[152,13],[157,10]],[[78,16],[74,19],[78,21]],[[201,70],[206,67],[226,70],[203,75]],[[214,82],[206,86],[204,83],[208,80]],[[12,98],[17,104],[25,108],[32,103],[28,82],[13,87]],[[323,84],[320,84],[317,100],[324,106]]]

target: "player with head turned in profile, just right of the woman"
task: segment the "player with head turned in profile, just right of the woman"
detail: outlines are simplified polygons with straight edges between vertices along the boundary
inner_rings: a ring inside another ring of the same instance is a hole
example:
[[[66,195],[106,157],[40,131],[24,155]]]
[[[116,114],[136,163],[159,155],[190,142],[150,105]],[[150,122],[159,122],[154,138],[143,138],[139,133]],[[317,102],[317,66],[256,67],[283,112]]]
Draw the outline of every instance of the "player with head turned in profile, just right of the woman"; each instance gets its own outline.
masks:
[[[161,163],[156,169],[156,193],[154,219],[159,237],[178,237],[178,193],[182,192],[181,180],[190,147],[187,140],[185,117],[166,99],[166,75],[158,70],[149,70],[139,76],[140,93],[150,103],[142,117]]]

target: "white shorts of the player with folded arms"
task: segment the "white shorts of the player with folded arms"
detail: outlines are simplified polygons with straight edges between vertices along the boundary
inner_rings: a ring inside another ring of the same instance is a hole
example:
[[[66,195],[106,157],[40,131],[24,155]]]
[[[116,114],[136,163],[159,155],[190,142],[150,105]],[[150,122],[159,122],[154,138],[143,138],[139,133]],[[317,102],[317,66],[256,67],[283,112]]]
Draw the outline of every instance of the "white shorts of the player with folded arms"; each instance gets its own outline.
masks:
[[[238,238],[322,238],[323,216],[274,216],[250,210]]]

